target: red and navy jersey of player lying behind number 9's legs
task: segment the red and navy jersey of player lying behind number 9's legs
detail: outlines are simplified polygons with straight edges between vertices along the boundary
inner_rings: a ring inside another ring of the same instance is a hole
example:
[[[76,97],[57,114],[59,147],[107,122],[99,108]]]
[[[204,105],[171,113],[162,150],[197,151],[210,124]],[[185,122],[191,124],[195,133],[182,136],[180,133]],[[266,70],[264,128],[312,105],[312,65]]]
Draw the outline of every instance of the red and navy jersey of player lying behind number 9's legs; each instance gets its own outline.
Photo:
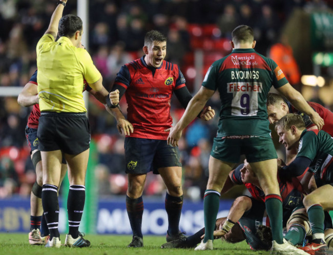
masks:
[[[243,183],[241,179],[240,169],[243,168],[244,164],[240,164],[232,174],[232,181],[235,184],[245,184],[251,196],[256,199],[265,202],[265,194],[262,189],[258,188],[252,183]],[[282,206],[284,209],[293,209],[298,205],[302,204],[304,195],[302,185],[297,178],[292,178],[292,181],[282,182],[277,176],[280,194],[282,198]]]

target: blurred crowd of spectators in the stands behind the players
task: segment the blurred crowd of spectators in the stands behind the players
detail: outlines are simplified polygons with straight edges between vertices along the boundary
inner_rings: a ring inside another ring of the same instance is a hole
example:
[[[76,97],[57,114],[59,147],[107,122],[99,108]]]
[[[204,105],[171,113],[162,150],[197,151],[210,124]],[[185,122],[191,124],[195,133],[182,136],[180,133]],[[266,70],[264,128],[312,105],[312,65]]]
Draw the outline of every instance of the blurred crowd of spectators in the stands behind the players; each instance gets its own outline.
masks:
[[[0,90],[1,87],[24,87],[36,69],[35,47],[47,29],[56,1],[0,1]],[[281,29],[295,8],[323,9],[327,1],[306,0],[94,0],[89,3],[89,52],[109,90],[120,67],[143,55],[144,34],[156,29],[168,36],[166,60],[180,65],[186,84],[195,93],[198,72],[205,73],[210,64],[230,53],[231,31],[241,24],[252,26],[256,50],[267,55],[281,37]],[[68,1],[65,14],[76,14],[76,1]],[[203,70],[196,70],[196,50],[204,51]],[[289,48],[287,48],[289,49]],[[289,49],[290,50],[290,49]],[[287,50],[283,50],[287,51]],[[296,67],[295,67],[296,65]],[[296,61],[290,83],[300,82]],[[283,69],[283,68],[282,68]],[[296,77],[296,78],[295,78]],[[30,196],[35,181],[33,164],[25,140],[25,126],[31,108],[22,108],[16,97],[0,97],[0,198],[13,194]],[[179,142],[183,163],[184,195],[202,198],[207,180],[207,166],[216,133],[219,96],[209,102],[217,116],[211,122],[195,120]],[[121,100],[126,113],[126,101]],[[172,100],[172,115],[178,120],[183,109]],[[92,169],[99,194],[125,194],[124,137],[116,123],[93,98],[89,99],[89,121],[96,143],[98,164]],[[159,176],[148,175],[144,195],[159,196],[165,187]]]

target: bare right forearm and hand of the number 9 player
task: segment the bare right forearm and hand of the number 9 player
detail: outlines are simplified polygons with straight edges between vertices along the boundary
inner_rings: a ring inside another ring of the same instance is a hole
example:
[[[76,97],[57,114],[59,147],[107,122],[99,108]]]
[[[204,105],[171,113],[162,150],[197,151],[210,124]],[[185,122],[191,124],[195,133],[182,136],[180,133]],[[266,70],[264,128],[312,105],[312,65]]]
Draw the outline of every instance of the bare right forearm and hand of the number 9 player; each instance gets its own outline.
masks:
[[[324,120],[319,116],[317,112],[305,101],[301,93],[295,90],[289,83],[277,89],[282,95],[284,95],[296,109],[307,114],[311,121],[321,130],[324,125]]]

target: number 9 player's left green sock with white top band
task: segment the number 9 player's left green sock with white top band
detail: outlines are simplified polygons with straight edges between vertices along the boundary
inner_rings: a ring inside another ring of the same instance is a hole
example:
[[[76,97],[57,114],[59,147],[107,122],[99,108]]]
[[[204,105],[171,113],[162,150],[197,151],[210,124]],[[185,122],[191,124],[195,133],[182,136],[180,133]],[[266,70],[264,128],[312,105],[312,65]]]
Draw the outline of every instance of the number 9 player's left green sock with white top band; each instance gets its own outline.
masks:
[[[206,189],[203,197],[203,215],[205,235],[204,242],[214,240],[216,216],[220,206],[220,193],[213,189]]]

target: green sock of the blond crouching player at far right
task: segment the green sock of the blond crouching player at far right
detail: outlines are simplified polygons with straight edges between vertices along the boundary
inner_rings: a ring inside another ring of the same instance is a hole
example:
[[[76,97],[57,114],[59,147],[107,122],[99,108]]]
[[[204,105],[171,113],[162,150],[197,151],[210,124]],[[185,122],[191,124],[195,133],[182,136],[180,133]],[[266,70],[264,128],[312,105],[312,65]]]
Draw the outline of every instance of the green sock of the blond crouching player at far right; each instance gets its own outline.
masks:
[[[312,230],[312,238],[313,239],[324,239],[323,235],[316,235],[316,234],[323,234],[324,233],[324,210],[320,204],[313,204],[307,208],[307,216],[309,217],[309,222],[311,225]]]

